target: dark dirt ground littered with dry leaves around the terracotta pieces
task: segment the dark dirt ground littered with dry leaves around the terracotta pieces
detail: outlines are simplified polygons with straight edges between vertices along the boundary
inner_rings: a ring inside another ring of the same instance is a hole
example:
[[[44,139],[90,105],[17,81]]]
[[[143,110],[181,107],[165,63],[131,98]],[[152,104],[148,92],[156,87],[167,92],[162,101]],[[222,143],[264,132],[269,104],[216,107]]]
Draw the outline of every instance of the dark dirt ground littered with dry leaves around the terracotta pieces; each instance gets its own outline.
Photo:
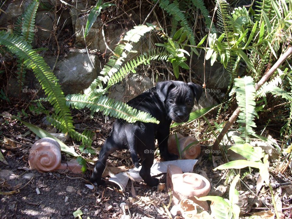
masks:
[[[1,112],[4,111],[8,111],[8,109],[2,108]],[[9,113],[14,115],[17,114],[16,111],[16,109],[9,109]],[[105,123],[102,115],[90,115],[89,112],[76,111],[72,114],[75,115],[75,125],[79,124],[80,129],[99,130],[96,132],[93,147],[101,147],[114,120],[110,119]],[[43,115],[33,116],[28,113],[25,116],[26,121],[30,121],[38,127],[47,130],[52,128],[43,124]],[[129,206],[126,214],[130,213],[130,218],[169,218],[165,206],[169,205],[171,195],[166,189],[158,191],[157,188],[146,186],[144,182],[137,183],[130,180],[124,193],[121,193],[119,188],[113,185],[96,186],[94,189],[90,189],[85,184],[90,184],[88,179],[93,165],[88,165],[88,170],[81,175],[69,172],[41,173],[30,170],[28,149],[36,141],[35,134],[16,120],[8,121],[1,117],[0,122],[2,124],[0,127],[1,138],[5,137],[6,139],[1,146],[1,151],[9,164],[5,165],[0,162],[0,192],[2,194],[0,196],[0,218],[74,218],[73,212],[79,209],[83,213],[81,218],[123,218],[124,213],[120,207],[122,202]],[[176,131],[183,135],[195,133],[196,124],[189,126],[191,128],[181,128]],[[204,124],[202,122],[200,124],[201,127],[198,127],[196,132],[204,129]],[[78,151],[78,142],[70,139],[66,144],[68,146],[75,145],[75,150]],[[212,170],[214,169],[212,159],[204,153],[208,148],[209,146],[202,145],[202,152],[194,172],[209,179],[211,183],[209,195],[228,198],[228,185],[230,185],[228,176],[232,176],[232,173]],[[66,156],[63,155],[63,158],[65,159]],[[96,159],[97,156],[88,158]],[[159,159],[159,156],[157,155],[156,158]],[[223,162],[221,156],[214,158],[216,165],[223,164]],[[126,150],[111,155],[107,165],[133,167],[130,154]],[[254,195],[259,177],[258,172],[253,171],[249,174],[247,171],[243,175],[245,177],[238,188],[240,192],[239,206],[242,209],[242,214],[249,216],[251,213],[269,212],[273,209],[268,187],[264,187],[258,196]],[[166,182],[166,174],[162,174],[158,178],[161,183]],[[292,215],[290,178],[286,173],[277,176],[271,174],[270,177],[275,196],[282,202],[284,218],[291,218]],[[36,190],[39,190],[39,194]]]

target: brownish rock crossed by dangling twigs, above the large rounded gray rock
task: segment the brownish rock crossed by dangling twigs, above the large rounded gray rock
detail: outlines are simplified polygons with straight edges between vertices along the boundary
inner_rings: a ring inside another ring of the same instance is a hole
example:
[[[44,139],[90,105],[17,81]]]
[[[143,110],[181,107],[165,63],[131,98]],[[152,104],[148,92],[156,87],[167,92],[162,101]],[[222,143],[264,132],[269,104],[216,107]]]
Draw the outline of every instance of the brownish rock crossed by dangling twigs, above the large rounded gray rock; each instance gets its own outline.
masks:
[[[87,15],[79,17],[76,19],[75,23],[76,42],[83,47],[85,47],[83,30],[85,30],[87,18]],[[82,26],[84,29],[82,29]],[[92,25],[88,35],[85,38],[86,45],[90,49],[96,49],[97,51],[110,53],[110,51],[106,48],[103,40],[102,26],[102,20],[97,18],[96,22]],[[117,24],[109,24],[104,26],[106,44],[111,50],[113,50],[115,45],[120,41],[123,32],[124,30],[120,29]]]

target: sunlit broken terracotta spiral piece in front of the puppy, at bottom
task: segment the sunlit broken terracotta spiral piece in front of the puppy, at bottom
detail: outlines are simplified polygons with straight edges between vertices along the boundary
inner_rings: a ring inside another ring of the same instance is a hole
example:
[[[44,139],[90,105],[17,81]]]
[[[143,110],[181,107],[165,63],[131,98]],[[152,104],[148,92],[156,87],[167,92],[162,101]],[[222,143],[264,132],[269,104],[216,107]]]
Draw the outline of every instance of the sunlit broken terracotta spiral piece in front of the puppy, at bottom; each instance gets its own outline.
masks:
[[[189,199],[204,210],[209,209],[206,201],[195,198],[206,196],[210,192],[210,182],[205,177],[196,173],[183,173],[178,166],[168,165],[166,185],[173,191],[172,205],[177,205],[183,199]]]

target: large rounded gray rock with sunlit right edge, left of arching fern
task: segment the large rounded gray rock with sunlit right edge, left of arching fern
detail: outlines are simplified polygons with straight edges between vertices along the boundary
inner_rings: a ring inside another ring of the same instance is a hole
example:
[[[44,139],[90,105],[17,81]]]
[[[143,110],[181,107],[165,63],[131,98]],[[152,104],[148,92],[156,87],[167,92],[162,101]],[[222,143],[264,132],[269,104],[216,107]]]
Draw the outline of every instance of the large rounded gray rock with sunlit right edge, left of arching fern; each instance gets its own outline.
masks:
[[[58,61],[54,73],[65,94],[79,93],[97,78],[100,61],[94,54],[89,56],[93,66],[87,53],[69,53],[67,57]]]

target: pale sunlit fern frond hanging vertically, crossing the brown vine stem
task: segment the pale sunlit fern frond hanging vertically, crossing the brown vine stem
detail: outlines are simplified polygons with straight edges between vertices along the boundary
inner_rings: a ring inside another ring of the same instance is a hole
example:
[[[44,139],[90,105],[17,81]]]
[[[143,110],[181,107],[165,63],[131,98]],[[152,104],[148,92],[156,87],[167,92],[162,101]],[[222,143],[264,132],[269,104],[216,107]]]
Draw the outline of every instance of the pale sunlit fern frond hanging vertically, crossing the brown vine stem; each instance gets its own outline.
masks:
[[[249,135],[254,134],[252,127],[256,127],[254,118],[255,111],[255,83],[250,76],[244,78],[235,78],[234,86],[236,87],[236,99],[240,107],[240,113],[237,122],[241,124],[238,131],[245,141],[249,141]]]

